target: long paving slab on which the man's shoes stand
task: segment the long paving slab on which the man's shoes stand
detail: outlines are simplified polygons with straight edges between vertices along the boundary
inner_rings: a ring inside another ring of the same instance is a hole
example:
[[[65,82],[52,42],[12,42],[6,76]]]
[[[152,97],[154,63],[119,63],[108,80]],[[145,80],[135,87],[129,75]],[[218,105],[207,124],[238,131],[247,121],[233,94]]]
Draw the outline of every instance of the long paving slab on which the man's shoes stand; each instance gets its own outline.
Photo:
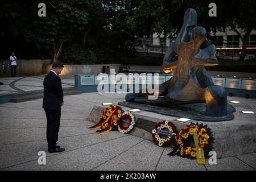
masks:
[[[88,133],[60,137],[58,144],[60,144],[61,147],[65,147],[65,152],[68,152],[75,150],[76,148],[86,147],[94,143],[104,142],[118,137],[122,136],[117,136],[115,134],[103,136],[97,133]],[[0,147],[0,169],[14,166],[15,164],[26,163],[30,160],[37,160],[39,151],[47,152],[47,142],[45,139],[35,142],[24,142],[2,146]],[[47,156],[52,155],[55,154],[47,152]]]

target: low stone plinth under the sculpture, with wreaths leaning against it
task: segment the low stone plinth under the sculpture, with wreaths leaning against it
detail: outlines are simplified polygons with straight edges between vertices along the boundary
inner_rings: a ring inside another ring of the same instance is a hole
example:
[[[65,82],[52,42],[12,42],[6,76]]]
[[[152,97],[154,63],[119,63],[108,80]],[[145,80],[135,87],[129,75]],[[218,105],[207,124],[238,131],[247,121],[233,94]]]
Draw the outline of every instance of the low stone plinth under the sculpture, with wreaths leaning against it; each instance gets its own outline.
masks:
[[[130,110],[129,107],[121,107],[123,110]],[[88,118],[86,118],[86,121],[93,122],[92,126],[94,125],[94,123],[100,122],[101,112],[105,108],[106,106],[95,105],[90,112]],[[177,131],[179,131],[186,125],[189,125],[189,123],[175,121],[177,117],[152,113],[144,110],[139,113],[133,114],[137,119],[137,122],[134,130],[131,131],[131,133],[129,134],[148,140],[152,140],[151,131],[152,129],[154,129],[154,126],[160,121],[171,121],[176,126]],[[208,127],[212,129],[213,137],[215,138],[213,150],[217,152],[217,158],[225,158],[229,156],[244,155],[256,152],[256,125],[250,122],[250,119],[252,118],[253,115],[249,115],[244,116],[245,121],[237,121],[237,118],[235,117],[233,121],[197,122],[203,123],[204,125],[207,124]]]

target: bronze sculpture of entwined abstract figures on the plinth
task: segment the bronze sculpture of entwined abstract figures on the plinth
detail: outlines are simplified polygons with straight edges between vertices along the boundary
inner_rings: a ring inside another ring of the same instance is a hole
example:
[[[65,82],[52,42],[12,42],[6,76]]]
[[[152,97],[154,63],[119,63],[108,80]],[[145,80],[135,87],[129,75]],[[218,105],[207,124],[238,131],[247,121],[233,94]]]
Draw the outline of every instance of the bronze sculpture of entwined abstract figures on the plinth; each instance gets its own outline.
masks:
[[[218,64],[216,48],[206,36],[203,27],[197,27],[197,13],[188,9],[184,22],[174,43],[163,59],[163,70],[174,72],[173,77],[159,85],[159,97],[148,100],[148,93],[129,93],[126,101],[156,106],[174,106],[206,103],[205,115],[222,117],[227,115],[225,88],[213,84],[204,67]]]

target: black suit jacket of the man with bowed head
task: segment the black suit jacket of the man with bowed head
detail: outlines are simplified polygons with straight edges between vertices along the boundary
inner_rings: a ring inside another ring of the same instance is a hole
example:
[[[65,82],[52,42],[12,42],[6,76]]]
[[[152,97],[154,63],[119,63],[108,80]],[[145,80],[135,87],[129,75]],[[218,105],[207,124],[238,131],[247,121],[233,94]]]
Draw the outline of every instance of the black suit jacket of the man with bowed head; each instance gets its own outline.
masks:
[[[61,102],[63,102],[63,89],[60,77],[53,72],[49,72],[44,78],[43,108],[60,110]]]

